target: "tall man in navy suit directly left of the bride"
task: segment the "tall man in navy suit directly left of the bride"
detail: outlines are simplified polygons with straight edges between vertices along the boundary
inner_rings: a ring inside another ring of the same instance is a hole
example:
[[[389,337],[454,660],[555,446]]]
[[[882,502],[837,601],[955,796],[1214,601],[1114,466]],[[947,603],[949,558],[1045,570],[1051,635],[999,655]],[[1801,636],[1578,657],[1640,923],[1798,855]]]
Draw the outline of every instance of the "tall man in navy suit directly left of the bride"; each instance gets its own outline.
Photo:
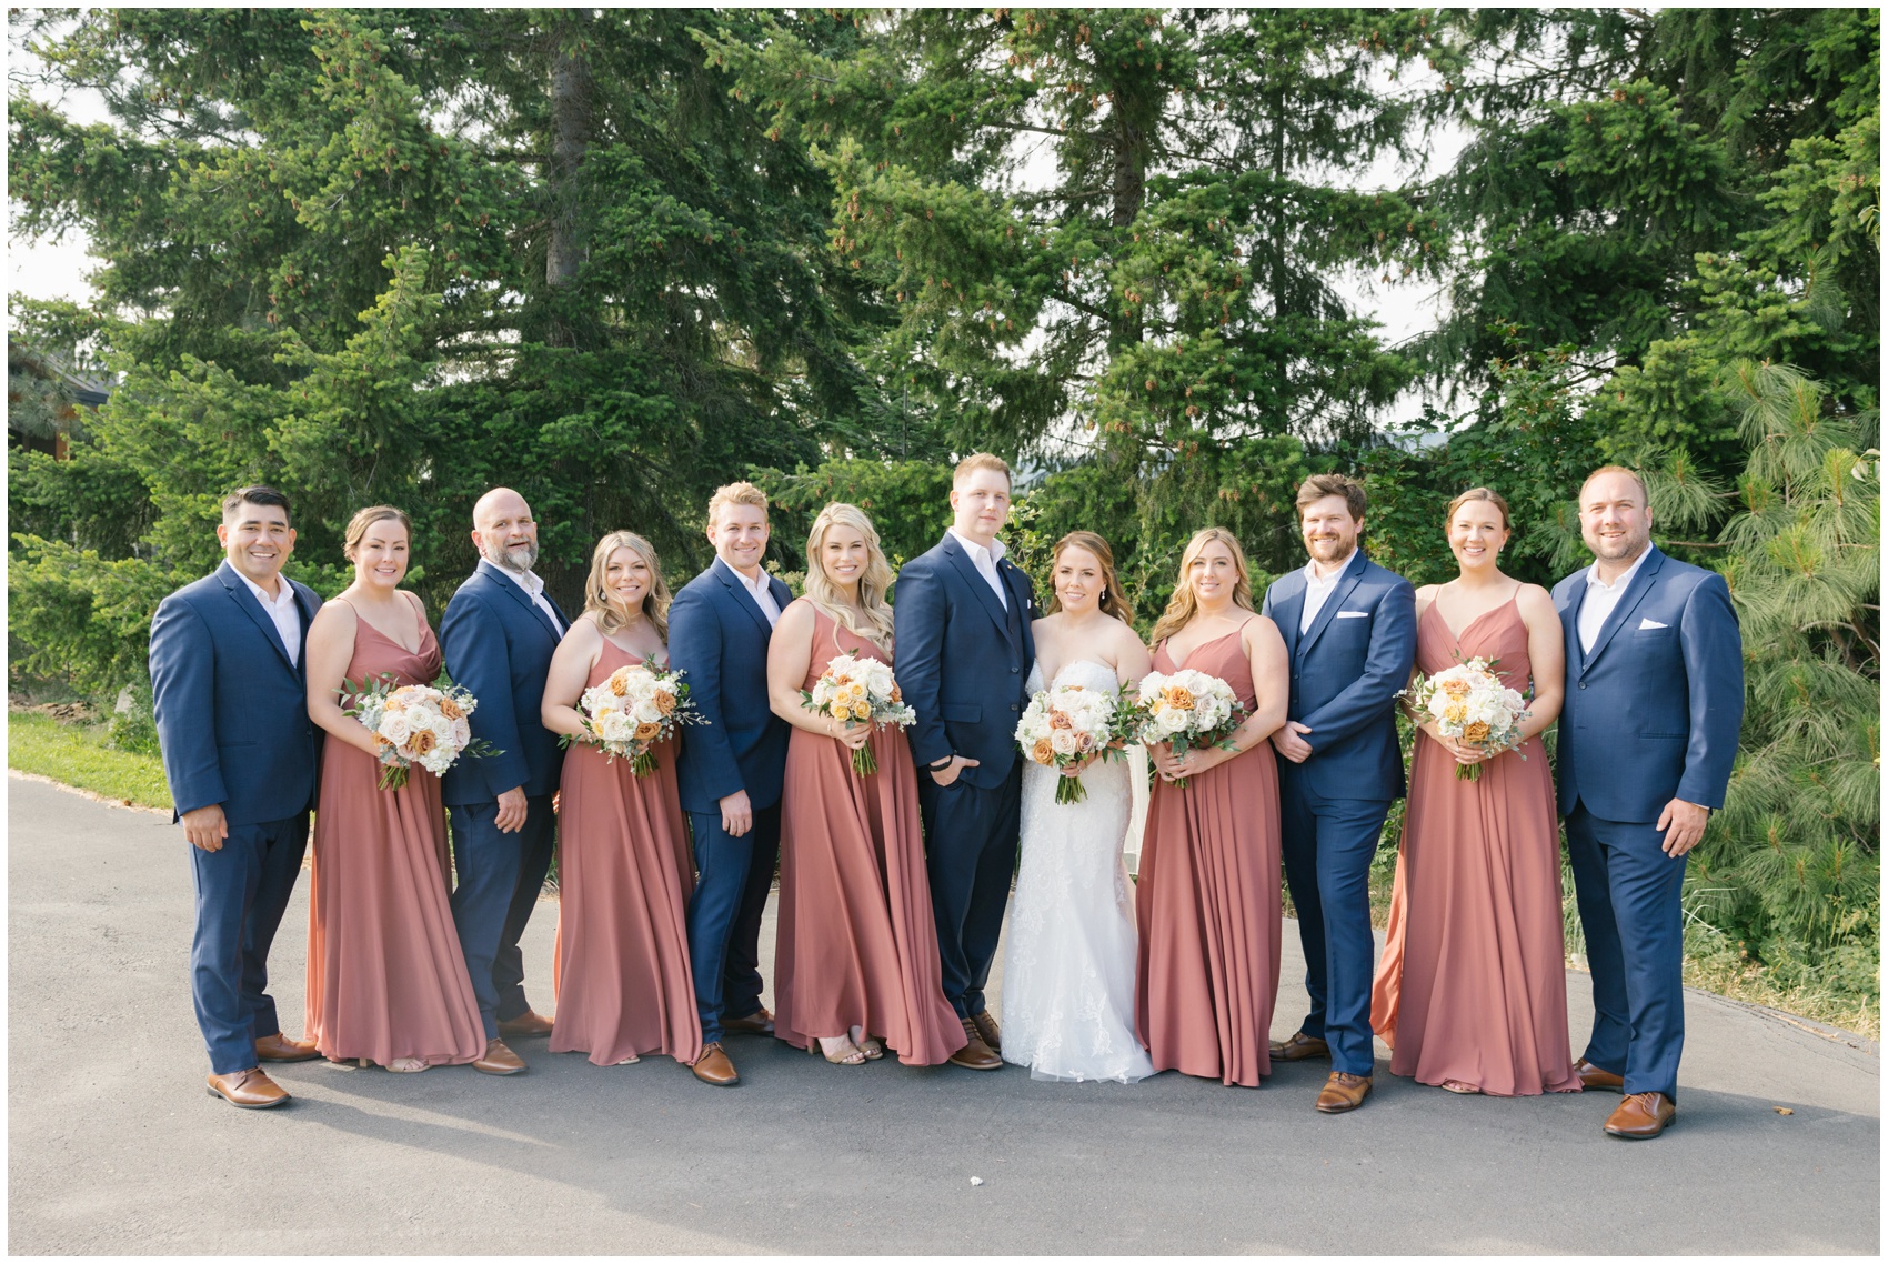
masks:
[[[1003,1041],[984,984],[1016,873],[1016,722],[1029,701],[1037,606],[1029,576],[997,538],[1010,520],[1010,467],[987,452],[965,457],[952,476],[950,506],[944,538],[899,572],[897,675],[918,712],[910,743],[944,996],[969,1037],[950,1060],[995,1071]]]

